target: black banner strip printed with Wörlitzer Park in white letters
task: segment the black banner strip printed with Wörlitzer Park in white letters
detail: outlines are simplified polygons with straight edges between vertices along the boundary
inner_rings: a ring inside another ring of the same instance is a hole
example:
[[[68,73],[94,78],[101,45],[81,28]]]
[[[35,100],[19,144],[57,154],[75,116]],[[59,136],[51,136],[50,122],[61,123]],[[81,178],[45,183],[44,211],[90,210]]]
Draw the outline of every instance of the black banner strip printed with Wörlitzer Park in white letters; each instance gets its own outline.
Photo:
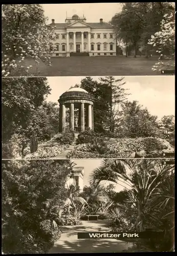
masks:
[[[78,232],[78,239],[149,239],[163,236],[164,232]]]

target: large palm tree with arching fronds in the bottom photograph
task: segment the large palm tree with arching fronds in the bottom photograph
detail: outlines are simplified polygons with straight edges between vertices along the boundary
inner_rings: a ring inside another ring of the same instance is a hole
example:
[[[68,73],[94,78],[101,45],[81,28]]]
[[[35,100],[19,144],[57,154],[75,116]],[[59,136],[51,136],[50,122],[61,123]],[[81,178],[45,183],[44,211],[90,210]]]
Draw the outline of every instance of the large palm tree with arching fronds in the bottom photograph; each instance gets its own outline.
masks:
[[[143,231],[152,200],[163,182],[170,177],[174,165],[162,165],[161,160],[106,159],[90,175],[90,183],[99,185],[103,180],[116,182],[128,190],[127,205],[136,214],[135,229]],[[166,195],[168,196],[168,195]]]

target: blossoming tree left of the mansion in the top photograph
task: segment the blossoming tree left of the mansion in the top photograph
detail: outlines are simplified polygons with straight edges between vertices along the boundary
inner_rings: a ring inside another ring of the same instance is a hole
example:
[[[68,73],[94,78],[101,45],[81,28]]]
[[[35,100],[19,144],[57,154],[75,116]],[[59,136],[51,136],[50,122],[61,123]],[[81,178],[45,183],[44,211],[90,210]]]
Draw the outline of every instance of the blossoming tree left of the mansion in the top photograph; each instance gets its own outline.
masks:
[[[48,18],[40,5],[4,5],[2,14],[2,74],[28,75],[32,66],[23,62],[32,57],[50,65],[54,27],[47,26]]]

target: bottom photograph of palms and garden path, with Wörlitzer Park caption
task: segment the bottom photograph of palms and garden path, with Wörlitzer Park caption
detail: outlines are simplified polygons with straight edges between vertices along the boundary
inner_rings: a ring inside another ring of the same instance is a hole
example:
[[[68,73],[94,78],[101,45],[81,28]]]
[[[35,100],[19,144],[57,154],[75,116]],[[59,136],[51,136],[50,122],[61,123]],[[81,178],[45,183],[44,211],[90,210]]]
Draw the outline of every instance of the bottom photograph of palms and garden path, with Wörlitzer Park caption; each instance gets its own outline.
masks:
[[[3,160],[2,248],[174,251],[174,159]]]

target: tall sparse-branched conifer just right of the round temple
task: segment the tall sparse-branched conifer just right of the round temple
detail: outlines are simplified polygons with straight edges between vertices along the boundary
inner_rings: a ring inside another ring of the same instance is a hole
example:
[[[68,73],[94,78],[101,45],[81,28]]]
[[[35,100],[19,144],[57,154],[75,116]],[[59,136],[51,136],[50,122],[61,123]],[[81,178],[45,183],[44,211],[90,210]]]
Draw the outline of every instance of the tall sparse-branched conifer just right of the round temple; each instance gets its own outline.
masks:
[[[109,130],[114,132],[116,126],[120,123],[122,111],[120,109],[121,104],[126,100],[126,96],[129,95],[123,86],[126,82],[123,82],[124,77],[115,79],[113,76],[106,76],[100,78],[102,84],[107,86],[107,94],[109,95]]]

